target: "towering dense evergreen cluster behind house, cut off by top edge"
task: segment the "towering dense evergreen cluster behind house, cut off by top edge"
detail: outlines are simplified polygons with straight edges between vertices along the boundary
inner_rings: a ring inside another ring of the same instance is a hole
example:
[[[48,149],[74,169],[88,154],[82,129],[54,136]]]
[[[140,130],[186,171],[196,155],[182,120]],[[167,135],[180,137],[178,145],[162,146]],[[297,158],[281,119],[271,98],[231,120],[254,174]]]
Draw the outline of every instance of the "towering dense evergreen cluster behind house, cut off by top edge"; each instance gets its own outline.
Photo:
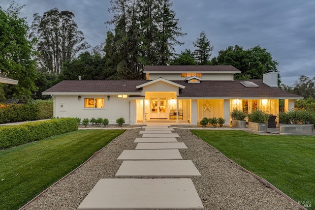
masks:
[[[105,24],[115,26],[107,37],[104,51],[107,68],[115,68],[117,78],[143,78],[144,65],[169,63],[177,37],[185,35],[169,0],[111,0],[113,18]]]

